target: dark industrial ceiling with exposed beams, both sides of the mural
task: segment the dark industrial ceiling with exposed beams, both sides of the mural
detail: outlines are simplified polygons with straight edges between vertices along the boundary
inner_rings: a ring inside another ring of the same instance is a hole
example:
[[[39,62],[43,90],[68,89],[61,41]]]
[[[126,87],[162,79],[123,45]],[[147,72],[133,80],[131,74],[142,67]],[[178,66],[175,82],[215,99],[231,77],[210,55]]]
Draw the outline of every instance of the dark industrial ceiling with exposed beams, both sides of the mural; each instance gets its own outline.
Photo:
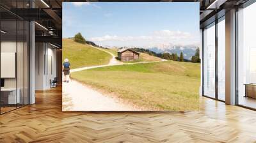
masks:
[[[61,47],[62,38],[62,2],[76,0],[1,0],[1,20],[35,20],[36,41],[51,42]],[[95,0],[92,0],[92,2]],[[118,1],[118,0],[100,0]],[[150,1],[150,0],[130,0]],[[157,1],[157,0],[152,0]],[[225,15],[225,10],[234,8],[248,0],[161,0],[171,2],[200,2],[200,27],[213,22],[216,17]],[[97,1],[95,1],[97,2]],[[216,14],[218,13],[218,14]],[[8,22],[4,22],[8,25]]]

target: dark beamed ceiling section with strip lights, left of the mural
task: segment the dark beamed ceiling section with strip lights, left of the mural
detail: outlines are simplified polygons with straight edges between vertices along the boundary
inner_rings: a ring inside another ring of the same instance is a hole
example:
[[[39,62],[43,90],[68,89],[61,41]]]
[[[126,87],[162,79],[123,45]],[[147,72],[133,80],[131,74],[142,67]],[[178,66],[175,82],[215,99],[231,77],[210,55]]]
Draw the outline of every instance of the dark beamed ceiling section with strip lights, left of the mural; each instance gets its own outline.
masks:
[[[50,42],[61,47],[62,37],[62,1],[61,0],[1,0],[0,14],[2,24],[8,33],[5,37],[15,35],[16,20],[33,20],[35,24],[36,41]],[[19,22],[18,22],[19,23]],[[19,25],[19,24],[18,24]],[[19,37],[18,28],[17,33]]]

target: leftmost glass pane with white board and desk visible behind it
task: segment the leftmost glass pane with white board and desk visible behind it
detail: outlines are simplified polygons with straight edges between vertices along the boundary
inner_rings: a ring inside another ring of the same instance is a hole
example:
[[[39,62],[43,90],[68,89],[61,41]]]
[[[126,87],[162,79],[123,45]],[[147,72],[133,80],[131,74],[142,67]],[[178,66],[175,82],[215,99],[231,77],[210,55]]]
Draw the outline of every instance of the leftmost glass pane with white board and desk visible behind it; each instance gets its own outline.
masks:
[[[17,109],[17,21],[1,21],[1,114]]]

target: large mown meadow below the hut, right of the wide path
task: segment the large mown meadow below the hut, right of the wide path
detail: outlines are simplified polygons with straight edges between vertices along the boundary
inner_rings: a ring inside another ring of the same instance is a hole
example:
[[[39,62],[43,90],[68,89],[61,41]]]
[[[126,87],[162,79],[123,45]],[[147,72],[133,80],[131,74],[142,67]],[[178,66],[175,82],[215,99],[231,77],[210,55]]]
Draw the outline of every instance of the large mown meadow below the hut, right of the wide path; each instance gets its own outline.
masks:
[[[198,110],[200,64],[176,61],[108,66],[72,78],[146,110]]]

